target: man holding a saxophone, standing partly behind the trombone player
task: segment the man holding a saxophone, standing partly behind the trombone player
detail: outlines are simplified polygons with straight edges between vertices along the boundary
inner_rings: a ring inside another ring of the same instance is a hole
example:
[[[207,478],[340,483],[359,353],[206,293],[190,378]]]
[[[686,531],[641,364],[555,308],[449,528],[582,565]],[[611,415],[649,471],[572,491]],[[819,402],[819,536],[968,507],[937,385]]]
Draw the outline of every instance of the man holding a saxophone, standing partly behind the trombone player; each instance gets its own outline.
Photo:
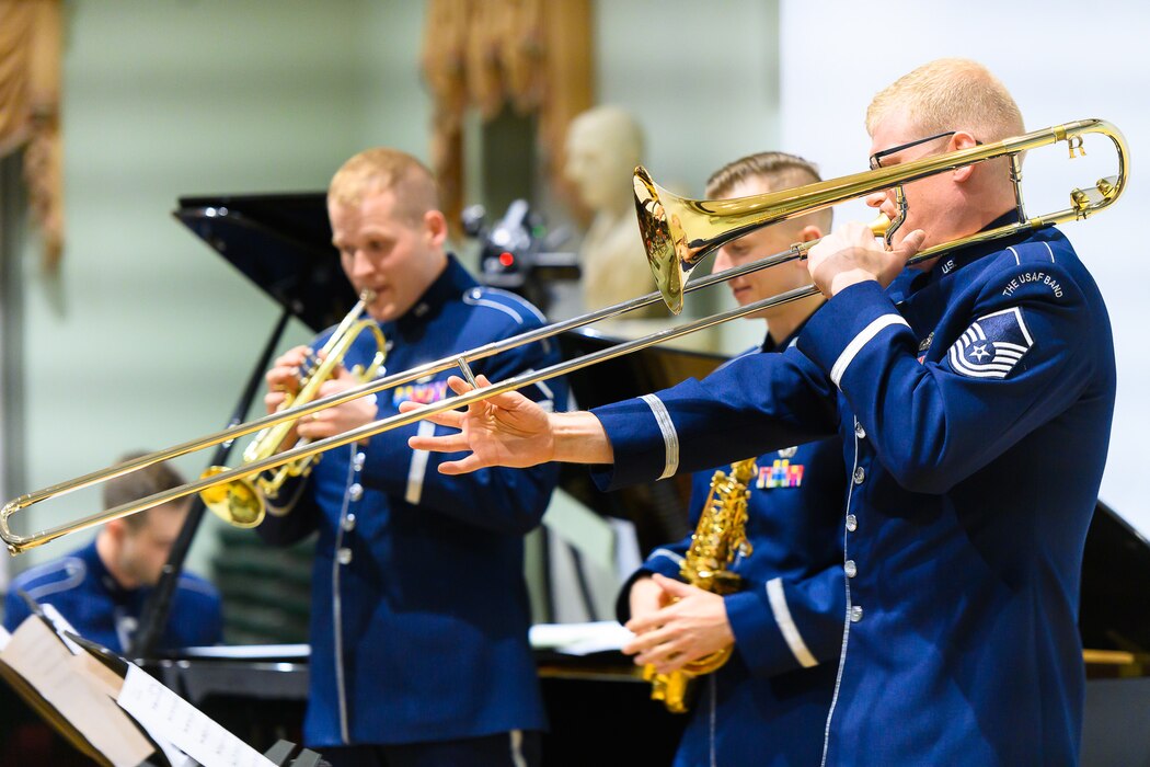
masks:
[[[706,195],[749,197],[818,181],[816,168],[806,160],[762,152],[715,171]],[[819,239],[830,231],[831,215],[830,209],[812,213],[728,243],[719,248],[714,270]],[[806,264],[797,259],[728,282],[741,306],[810,284]],[[766,322],[766,337],[746,354],[793,345],[823,302],[816,293],[749,315]],[[733,469],[721,467],[724,474]],[[651,552],[619,599],[620,621],[638,635],[623,647],[628,654],[643,658],[649,650],[673,645],[677,652],[707,657],[734,645],[718,670],[691,683],[695,689],[687,700],[666,700],[673,711],[675,705],[691,708],[676,766],[816,765],[822,756],[846,614],[843,446],[831,438],[784,447],[754,457],[754,466],[744,470],[750,477],[726,494],[715,470],[696,473],[690,501],[695,530],[708,507],[738,503],[743,488],[750,492],[743,529],[750,546],[727,568],[741,582],[738,590],[721,596],[683,582],[682,568],[690,574],[713,554],[692,546],[692,532]],[[720,484],[712,497],[713,478]],[[708,515],[708,530],[715,529],[716,519],[723,521],[721,514]],[[726,521],[722,545],[737,546],[739,526]],[[680,697],[668,682],[654,681],[659,695]]]

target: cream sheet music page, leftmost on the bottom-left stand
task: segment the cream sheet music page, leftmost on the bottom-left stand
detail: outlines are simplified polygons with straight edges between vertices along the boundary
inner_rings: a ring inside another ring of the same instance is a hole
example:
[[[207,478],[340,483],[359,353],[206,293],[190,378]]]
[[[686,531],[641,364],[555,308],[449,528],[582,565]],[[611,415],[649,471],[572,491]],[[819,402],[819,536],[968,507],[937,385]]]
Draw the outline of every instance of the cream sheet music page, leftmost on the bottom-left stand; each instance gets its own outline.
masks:
[[[48,626],[31,615],[0,652],[7,664],[115,767],[137,767],[154,752],[128,715],[83,673]]]

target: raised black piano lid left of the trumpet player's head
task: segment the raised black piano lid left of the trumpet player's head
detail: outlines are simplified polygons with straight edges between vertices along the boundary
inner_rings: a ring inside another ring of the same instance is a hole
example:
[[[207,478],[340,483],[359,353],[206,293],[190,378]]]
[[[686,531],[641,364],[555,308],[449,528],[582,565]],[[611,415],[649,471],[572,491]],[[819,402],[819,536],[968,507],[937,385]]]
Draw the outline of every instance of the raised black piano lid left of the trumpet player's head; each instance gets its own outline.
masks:
[[[355,305],[325,200],[324,192],[182,197],[172,215],[319,332]]]

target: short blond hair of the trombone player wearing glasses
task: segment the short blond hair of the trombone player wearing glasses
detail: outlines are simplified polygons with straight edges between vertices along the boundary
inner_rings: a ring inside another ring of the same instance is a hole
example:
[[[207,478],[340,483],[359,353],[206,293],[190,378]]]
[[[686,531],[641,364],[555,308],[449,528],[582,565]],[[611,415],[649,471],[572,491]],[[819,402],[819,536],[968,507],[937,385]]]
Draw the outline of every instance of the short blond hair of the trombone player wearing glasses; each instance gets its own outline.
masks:
[[[965,130],[988,143],[1025,131],[1022,113],[1006,86],[969,59],[937,59],[880,91],[866,110],[867,133],[873,136],[895,110],[911,115],[923,136]]]

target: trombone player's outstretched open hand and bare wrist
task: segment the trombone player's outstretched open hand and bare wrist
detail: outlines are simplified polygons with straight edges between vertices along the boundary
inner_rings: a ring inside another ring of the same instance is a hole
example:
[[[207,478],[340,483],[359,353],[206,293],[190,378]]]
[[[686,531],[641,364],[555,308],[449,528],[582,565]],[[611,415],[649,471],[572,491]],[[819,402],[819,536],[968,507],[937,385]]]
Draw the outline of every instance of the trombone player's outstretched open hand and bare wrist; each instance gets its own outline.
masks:
[[[484,376],[476,381],[481,389],[491,385]],[[457,394],[473,389],[458,376],[451,376],[447,385]],[[399,411],[409,413],[420,407],[401,402]],[[414,436],[407,440],[409,447],[436,453],[470,451],[459,460],[440,463],[440,474],[469,474],[489,466],[526,468],[547,461],[610,463],[613,459],[611,443],[593,415],[549,413],[514,391],[471,402],[466,411],[429,415],[427,420],[459,431]]]

